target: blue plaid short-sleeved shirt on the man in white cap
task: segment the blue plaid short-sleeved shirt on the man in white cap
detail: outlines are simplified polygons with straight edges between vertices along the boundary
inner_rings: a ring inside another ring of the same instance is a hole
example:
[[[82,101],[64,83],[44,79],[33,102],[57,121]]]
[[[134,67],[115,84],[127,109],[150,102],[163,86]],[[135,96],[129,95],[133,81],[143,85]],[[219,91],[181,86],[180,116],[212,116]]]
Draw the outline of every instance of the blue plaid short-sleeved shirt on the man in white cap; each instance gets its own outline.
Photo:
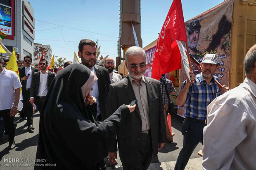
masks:
[[[207,106],[216,97],[222,94],[215,80],[220,83],[220,79],[218,79],[216,76],[213,76],[210,84],[208,85],[202,74],[197,74],[195,76],[194,84],[190,85],[189,91],[187,93],[187,99],[183,104],[186,107],[186,117],[206,120]],[[186,83],[187,80],[184,81],[181,89],[185,86]]]

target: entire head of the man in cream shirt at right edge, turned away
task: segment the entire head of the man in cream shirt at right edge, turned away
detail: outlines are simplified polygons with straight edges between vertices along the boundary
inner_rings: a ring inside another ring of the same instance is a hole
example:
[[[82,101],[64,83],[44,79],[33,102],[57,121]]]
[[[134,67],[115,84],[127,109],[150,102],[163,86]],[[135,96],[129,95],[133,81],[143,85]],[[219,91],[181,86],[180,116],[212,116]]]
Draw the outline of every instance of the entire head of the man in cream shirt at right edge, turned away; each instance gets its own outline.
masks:
[[[249,49],[244,57],[244,70],[246,77],[256,83],[256,44]]]

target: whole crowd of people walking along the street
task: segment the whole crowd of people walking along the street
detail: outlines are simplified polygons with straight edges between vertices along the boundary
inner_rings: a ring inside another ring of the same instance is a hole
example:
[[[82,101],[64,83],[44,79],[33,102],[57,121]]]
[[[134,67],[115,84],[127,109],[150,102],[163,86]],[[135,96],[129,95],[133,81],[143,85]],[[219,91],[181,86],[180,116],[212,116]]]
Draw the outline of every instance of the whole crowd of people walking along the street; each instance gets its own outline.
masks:
[[[55,74],[47,70],[45,59],[38,68],[31,67],[27,55],[17,61],[20,78],[0,59],[0,117],[5,122],[0,121],[0,137],[5,126],[9,149],[14,149],[14,115],[22,91],[20,117],[27,120],[28,130],[35,129],[33,103],[40,113],[36,159],[56,164],[56,169],[105,170],[107,161],[116,165],[118,151],[123,170],[147,170],[164,143],[173,142],[166,121],[173,83],[165,75],[160,80],[144,76],[146,54],[140,47],[125,53],[125,78],[114,72],[110,57],[104,67],[96,65],[97,45],[92,40],[80,41],[78,56],[81,64],[65,62]],[[202,72],[190,71],[176,95],[186,113],[175,170],[185,169],[199,142],[203,169],[256,167],[256,45],[244,58],[244,83],[232,90],[216,83],[221,83],[214,76],[219,63],[218,55],[204,55]]]

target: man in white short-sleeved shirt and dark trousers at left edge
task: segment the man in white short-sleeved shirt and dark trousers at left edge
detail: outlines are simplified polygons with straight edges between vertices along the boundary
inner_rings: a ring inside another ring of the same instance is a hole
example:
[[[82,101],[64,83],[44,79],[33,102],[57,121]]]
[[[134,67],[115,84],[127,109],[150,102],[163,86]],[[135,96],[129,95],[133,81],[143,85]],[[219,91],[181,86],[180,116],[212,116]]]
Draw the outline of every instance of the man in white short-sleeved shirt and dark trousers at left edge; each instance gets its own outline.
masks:
[[[3,63],[0,57],[0,117],[3,117],[8,130],[9,149],[14,149],[14,116],[18,109],[21,83],[14,71],[2,67]]]

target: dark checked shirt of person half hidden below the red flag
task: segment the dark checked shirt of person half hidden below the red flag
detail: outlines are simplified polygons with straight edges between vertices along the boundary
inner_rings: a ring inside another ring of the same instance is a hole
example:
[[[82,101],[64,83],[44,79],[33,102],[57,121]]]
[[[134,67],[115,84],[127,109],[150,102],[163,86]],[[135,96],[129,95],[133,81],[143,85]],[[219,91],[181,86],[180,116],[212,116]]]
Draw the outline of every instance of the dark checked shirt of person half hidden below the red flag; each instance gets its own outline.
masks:
[[[163,103],[164,104],[168,104],[168,102],[170,101],[169,96],[167,95],[165,86],[164,86],[164,82],[166,84],[166,88],[168,90],[168,94],[169,92],[175,92],[175,88],[173,87],[173,83],[171,82],[171,80],[167,79],[166,77],[161,77],[159,80],[160,83],[160,87],[161,87],[161,93],[162,93],[162,97],[163,97]]]

